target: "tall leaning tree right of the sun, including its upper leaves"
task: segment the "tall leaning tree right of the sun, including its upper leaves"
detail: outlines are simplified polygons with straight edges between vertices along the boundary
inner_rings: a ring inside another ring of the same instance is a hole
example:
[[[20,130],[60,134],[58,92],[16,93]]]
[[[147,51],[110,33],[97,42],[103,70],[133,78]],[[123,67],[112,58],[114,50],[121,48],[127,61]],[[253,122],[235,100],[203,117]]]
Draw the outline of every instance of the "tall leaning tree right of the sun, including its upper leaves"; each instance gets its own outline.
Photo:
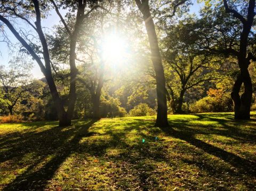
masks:
[[[151,51],[151,61],[153,62],[155,70],[156,79],[156,92],[157,92],[157,119],[155,126],[168,126],[167,121],[167,102],[166,102],[166,88],[165,88],[165,77],[164,69],[162,64],[162,57],[159,51],[158,39],[156,34],[155,23],[150,11],[149,0],[135,0],[140,12],[143,15],[143,20],[145,22],[150,51]],[[188,0],[175,0],[175,1],[153,1],[154,15],[157,15],[159,21],[164,20],[164,25],[169,23],[170,19],[173,18],[175,12],[178,11],[178,7],[186,4],[190,4]]]

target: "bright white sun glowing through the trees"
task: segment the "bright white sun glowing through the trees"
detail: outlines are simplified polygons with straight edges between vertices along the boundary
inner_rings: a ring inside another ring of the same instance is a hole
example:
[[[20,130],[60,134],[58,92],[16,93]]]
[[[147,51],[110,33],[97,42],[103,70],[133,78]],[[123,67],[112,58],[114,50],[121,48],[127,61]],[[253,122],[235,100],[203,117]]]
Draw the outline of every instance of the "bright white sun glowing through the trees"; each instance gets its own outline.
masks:
[[[103,60],[111,67],[121,67],[126,55],[126,40],[116,34],[106,36],[102,42]]]

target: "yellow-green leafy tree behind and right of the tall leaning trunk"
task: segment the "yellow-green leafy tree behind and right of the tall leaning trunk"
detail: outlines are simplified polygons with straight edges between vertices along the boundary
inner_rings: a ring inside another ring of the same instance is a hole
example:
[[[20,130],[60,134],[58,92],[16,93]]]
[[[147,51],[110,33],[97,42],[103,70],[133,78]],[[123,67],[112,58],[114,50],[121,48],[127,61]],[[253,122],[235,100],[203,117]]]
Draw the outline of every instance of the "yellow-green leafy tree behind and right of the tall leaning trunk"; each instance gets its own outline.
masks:
[[[172,99],[175,113],[183,113],[182,104],[187,90],[216,79],[214,71],[220,68],[219,59],[198,47],[201,38],[190,34],[191,25],[194,24],[196,21],[192,18],[182,20],[167,30],[167,35],[162,40],[166,86],[170,94],[167,97]],[[174,80],[177,83],[174,83]],[[178,90],[178,97],[174,89]]]

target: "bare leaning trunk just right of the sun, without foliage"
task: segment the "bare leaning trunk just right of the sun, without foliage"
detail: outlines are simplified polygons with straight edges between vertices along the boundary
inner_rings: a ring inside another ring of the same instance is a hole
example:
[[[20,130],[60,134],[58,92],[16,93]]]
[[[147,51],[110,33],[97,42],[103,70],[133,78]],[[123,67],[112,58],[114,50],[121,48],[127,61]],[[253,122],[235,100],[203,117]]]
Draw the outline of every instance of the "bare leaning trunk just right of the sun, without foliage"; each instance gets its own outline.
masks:
[[[165,77],[162,64],[162,57],[159,51],[158,40],[156,35],[156,29],[154,21],[151,17],[148,3],[139,4],[136,1],[141,13],[143,14],[143,20],[145,22],[149,45],[151,49],[151,60],[154,65],[156,73],[156,93],[157,93],[157,117],[155,126],[166,127],[167,121],[167,102],[166,102],[166,90],[165,90]]]

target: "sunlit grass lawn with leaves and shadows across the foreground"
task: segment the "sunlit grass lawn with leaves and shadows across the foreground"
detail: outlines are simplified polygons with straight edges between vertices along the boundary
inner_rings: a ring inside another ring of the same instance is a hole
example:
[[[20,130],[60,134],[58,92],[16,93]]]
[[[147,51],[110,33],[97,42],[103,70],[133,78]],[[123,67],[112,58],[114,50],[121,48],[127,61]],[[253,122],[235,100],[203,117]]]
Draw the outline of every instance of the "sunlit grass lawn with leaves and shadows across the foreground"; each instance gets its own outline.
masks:
[[[1,124],[0,190],[256,189],[256,113],[170,115],[169,128],[154,120]]]

